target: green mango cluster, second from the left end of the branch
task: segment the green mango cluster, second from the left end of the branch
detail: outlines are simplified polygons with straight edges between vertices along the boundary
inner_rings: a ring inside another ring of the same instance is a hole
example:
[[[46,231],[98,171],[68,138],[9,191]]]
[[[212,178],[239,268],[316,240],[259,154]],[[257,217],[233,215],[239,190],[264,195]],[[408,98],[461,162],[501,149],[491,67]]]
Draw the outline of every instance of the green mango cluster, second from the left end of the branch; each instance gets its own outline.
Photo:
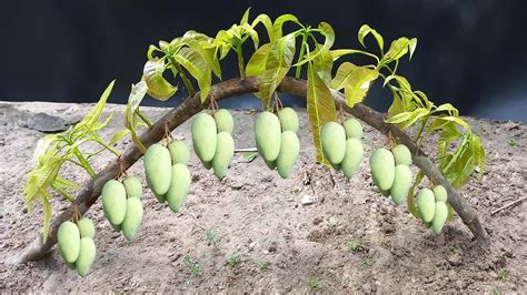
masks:
[[[128,241],[131,241],[142,221],[142,185],[135,177],[126,177],[122,183],[116,180],[108,181],[102,186],[102,210],[116,232],[122,231]]]

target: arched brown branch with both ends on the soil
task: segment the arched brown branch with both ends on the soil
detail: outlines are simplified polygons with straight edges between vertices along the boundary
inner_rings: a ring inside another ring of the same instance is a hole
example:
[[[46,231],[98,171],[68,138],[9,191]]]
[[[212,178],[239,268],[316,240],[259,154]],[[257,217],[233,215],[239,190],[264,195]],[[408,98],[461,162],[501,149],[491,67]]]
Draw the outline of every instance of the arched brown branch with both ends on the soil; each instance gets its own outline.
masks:
[[[225,82],[220,82],[212,85],[210,89],[209,99],[213,98],[216,101],[220,101],[227,98],[237,96],[241,94],[252,93],[258,91],[258,78],[249,78],[246,80],[231,79]],[[306,96],[307,94],[307,82],[305,80],[297,80],[294,78],[285,78],[278,88],[279,92],[296,94]],[[364,105],[356,104],[354,108],[346,105],[345,99],[341,93],[334,92],[334,98],[338,106],[342,106],[348,113],[362,120],[372,128],[379,130],[384,134],[391,132],[391,135],[398,143],[406,144],[410,149],[414,157],[414,163],[425,173],[425,175],[432,180],[435,183],[443,184],[448,192],[448,202],[453,205],[454,210],[461,217],[463,222],[473,232],[476,240],[483,247],[488,247],[489,237],[487,232],[479,223],[476,212],[470,208],[461,200],[458,193],[456,193],[453,186],[446,181],[441,172],[436,165],[426,156],[426,154],[414,143],[414,141],[396,125],[385,123],[384,114],[374,111],[372,109]],[[192,115],[202,110],[203,105],[208,105],[208,102],[200,103],[200,93],[196,93],[193,96],[186,99],[180,105],[167,112],[161,119],[159,119],[151,128],[145,131],[140,140],[145,146],[159,142],[165,135],[165,128],[167,126],[170,131],[182,124],[185,121],[190,119]],[[84,187],[78,193],[76,200],[71,206],[66,210],[62,214],[57,216],[51,223],[49,236],[46,241],[42,238],[42,234],[39,234],[37,238],[29,245],[26,246],[21,252],[11,256],[8,260],[10,264],[21,264],[28,261],[36,261],[43,257],[48,251],[57,243],[57,231],[59,225],[70,220],[74,207],[77,206],[81,214],[84,214],[93,203],[97,202],[100,196],[103,184],[118,176],[120,171],[120,163],[125,169],[129,169],[133,163],[142,157],[142,153],[137,149],[135,144],[131,144],[125,153],[118,159],[111,161],[106,169],[100,171],[95,179],[88,181]]]

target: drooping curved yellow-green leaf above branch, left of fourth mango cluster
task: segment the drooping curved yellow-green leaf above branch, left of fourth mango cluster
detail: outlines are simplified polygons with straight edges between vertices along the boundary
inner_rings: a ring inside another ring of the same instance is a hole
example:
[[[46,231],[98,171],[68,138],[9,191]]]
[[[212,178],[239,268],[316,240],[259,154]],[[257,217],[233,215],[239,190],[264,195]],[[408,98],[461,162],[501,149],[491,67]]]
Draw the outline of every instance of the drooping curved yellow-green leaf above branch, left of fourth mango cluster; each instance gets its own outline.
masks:
[[[176,62],[181,64],[198,81],[201,91],[201,102],[205,102],[209,95],[212,83],[211,69],[207,61],[190,48],[182,48],[178,54],[172,57]]]

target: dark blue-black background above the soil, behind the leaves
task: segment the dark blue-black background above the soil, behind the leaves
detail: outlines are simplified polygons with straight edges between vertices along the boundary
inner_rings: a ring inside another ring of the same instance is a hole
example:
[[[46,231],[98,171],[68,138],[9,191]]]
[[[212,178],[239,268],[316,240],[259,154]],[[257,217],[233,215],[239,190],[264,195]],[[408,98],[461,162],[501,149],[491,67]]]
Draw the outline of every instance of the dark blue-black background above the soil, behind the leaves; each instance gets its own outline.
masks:
[[[400,35],[417,37],[414,59],[400,68],[415,89],[436,103],[454,102],[463,114],[527,121],[524,0],[34,0],[0,7],[0,100],[96,101],[118,79],[110,101],[123,102],[140,79],[150,43],[190,29],[215,35],[252,7],[252,16],[294,13],[312,26],[327,21],[336,31],[336,48],[358,48],[362,23],[388,44]],[[235,63],[222,68],[227,78],[237,74]],[[367,103],[386,110],[391,96],[379,84]]]

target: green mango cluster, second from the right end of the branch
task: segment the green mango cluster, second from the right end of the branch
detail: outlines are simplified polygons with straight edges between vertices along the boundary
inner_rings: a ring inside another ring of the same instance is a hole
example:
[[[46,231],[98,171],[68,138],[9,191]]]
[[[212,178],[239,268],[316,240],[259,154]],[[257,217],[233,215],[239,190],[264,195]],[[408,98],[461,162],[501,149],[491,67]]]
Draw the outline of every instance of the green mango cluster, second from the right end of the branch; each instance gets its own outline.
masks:
[[[385,196],[391,196],[396,205],[402,203],[411,187],[411,153],[404,144],[397,144],[391,152],[377,149],[369,159],[371,177]]]

